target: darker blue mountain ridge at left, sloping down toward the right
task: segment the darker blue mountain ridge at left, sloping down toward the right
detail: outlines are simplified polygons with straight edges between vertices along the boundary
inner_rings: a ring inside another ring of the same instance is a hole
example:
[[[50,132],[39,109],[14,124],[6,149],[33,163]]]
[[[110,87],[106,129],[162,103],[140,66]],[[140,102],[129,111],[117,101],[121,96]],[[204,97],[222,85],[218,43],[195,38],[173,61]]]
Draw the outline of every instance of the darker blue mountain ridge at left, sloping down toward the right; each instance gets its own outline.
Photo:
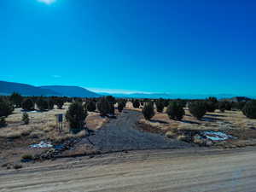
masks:
[[[78,86],[33,86],[15,82],[0,81],[0,95],[9,96],[18,92],[22,96],[70,96],[70,97],[99,97],[90,90]]]

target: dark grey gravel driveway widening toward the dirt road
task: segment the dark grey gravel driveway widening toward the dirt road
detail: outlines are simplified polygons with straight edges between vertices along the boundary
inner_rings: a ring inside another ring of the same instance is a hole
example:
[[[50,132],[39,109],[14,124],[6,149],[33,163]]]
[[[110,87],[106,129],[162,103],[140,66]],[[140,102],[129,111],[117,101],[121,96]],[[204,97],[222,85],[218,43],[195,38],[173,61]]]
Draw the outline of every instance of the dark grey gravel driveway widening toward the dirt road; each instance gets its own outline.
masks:
[[[107,125],[97,130],[89,140],[102,152],[190,147],[189,143],[138,131],[136,123],[141,117],[142,113],[125,110],[117,119],[111,119]],[[84,138],[81,143],[89,144],[88,138]]]

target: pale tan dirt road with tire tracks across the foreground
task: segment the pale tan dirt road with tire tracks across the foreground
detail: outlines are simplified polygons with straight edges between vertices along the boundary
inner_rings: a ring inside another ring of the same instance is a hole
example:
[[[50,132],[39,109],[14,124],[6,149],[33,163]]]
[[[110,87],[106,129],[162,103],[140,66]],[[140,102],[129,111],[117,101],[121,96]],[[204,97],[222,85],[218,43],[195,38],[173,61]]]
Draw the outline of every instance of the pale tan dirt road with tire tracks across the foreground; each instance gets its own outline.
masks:
[[[0,191],[255,192],[256,148],[132,151],[0,172]]]

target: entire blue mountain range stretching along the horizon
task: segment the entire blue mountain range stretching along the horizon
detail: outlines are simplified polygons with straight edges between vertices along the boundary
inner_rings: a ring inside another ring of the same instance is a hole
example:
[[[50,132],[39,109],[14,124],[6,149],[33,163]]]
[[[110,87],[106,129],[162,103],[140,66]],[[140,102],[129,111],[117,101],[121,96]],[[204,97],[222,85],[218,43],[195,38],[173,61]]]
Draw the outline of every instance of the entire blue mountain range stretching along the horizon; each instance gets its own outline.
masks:
[[[191,94],[168,94],[168,93],[104,93],[93,92],[79,86],[64,86],[64,85],[47,85],[33,86],[31,84],[20,84],[14,82],[0,81],[0,95],[9,96],[13,92],[18,92],[22,96],[69,96],[69,97],[100,97],[100,96],[115,96],[121,98],[148,98],[148,99],[206,99],[209,96],[215,96],[218,99],[234,98],[236,95],[218,94],[218,95],[191,95]],[[256,98],[255,96],[247,96]]]

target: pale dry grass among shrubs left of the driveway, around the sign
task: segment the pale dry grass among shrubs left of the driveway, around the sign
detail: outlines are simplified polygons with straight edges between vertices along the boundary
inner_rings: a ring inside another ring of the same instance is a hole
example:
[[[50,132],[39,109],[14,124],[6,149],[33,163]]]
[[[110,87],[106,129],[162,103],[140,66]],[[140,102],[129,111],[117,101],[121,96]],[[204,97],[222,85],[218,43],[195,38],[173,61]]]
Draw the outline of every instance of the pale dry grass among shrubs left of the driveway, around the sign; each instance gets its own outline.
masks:
[[[28,112],[30,123],[23,125],[22,111],[16,108],[15,112],[6,119],[7,126],[0,129],[0,138],[18,139],[27,137],[28,139],[49,139],[52,141],[63,141],[73,137],[84,137],[85,131],[81,131],[77,135],[69,133],[67,122],[63,122],[63,131],[59,132],[56,128],[55,114],[63,113],[65,115],[68,103],[65,103],[63,109],[53,109],[47,112]],[[108,122],[108,118],[102,118],[99,113],[89,113],[86,124],[90,129],[99,129],[104,123]]]

